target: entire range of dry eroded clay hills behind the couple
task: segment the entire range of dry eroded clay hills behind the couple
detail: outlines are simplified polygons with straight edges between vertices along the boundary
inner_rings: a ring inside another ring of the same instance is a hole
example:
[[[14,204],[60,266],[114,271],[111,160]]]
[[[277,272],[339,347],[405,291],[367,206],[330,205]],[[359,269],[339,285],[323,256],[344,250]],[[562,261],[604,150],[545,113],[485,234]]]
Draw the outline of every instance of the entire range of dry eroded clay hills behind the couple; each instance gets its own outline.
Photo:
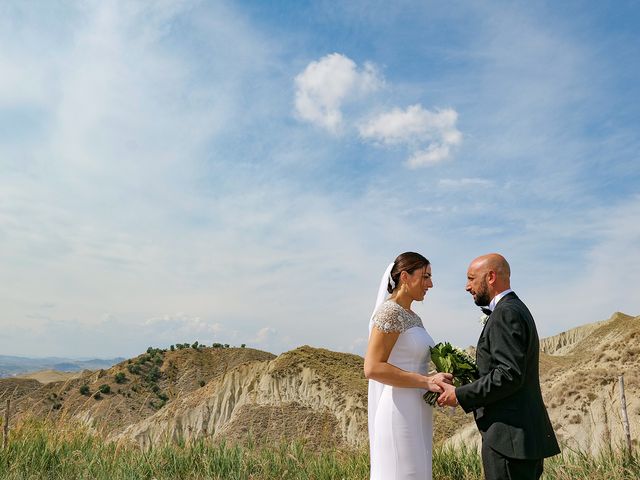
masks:
[[[543,339],[541,383],[560,441],[597,451],[623,440],[618,376],[632,433],[640,431],[640,317]],[[108,370],[46,385],[0,380],[17,414],[80,419],[105,437],[149,447],[197,438],[292,439],[366,448],[367,380],[357,355],[300,347],[276,357],[248,348],[150,349]],[[435,443],[478,441],[471,415],[434,411]]]

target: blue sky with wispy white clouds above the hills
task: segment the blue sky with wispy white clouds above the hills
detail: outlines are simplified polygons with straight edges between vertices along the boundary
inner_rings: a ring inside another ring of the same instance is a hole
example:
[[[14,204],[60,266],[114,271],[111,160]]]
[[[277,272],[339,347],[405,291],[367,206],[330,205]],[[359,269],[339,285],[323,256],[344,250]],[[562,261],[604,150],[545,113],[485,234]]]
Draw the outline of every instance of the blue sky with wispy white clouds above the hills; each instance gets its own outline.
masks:
[[[0,353],[362,354],[397,254],[474,344],[640,314],[640,4],[0,3]]]

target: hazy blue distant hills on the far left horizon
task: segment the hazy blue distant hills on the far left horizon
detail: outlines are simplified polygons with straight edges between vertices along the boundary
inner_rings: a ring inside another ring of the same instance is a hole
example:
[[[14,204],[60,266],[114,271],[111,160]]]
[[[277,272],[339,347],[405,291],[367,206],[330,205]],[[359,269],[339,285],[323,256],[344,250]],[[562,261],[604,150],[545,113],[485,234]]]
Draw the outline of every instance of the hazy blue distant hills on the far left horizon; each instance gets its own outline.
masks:
[[[71,358],[45,357],[29,358],[11,355],[0,355],[0,378],[12,377],[40,370],[57,370],[61,372],[81,372],[109,368],[124,358],[77,360]]]

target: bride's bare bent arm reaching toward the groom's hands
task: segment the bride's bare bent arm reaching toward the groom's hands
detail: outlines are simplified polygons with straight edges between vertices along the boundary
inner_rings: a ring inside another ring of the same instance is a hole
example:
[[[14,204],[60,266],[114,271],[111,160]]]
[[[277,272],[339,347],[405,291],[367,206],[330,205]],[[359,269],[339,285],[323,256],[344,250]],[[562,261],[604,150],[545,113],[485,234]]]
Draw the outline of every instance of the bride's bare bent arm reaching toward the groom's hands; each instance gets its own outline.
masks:
[[[421,375],[407,372],[387,363],[399,335],[396,332],[384,333],[378,330],[377,327],[373,327],[369,336],[367,353],[364,357],[365,377],[393,387],[424,388],[432,392],[442,392],[442,388],[438,386],[438,383],[451,383],[450,374]]]

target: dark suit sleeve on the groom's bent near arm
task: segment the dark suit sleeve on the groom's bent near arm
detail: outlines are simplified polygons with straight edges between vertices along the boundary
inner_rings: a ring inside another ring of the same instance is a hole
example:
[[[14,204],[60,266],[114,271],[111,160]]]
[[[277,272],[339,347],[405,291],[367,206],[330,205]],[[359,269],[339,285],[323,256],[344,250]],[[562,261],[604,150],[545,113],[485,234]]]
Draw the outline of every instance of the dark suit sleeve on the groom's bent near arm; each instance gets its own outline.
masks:
[[[524,383],[530,333],[520,312],[501,311],[497,318],[491,318],[485,334],[493,368],[475,382],[456,388],[456,397],[465,412],[502,400]]]

